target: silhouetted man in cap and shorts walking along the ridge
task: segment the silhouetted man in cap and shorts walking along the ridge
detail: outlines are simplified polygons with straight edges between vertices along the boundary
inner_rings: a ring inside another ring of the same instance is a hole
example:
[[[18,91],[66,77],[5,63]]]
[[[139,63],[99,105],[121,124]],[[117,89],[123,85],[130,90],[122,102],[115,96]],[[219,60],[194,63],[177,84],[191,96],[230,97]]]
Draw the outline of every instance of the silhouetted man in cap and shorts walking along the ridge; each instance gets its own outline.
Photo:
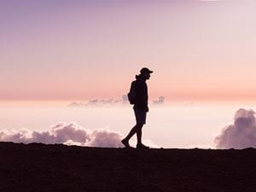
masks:
[[[134,102],[131,103],[134,103],[133,109],[137,123],[131,129],[127,137],[121,141],[126,148],[131,148],[129,140],[135,133],[137,134],[137,148],[148,148],[148,146],[142,143],[142,130],[143,125],[146,124],[146,116],[148,113],[148,86],[146,80],[150,78],[150,73],[153,73],[153,71],[150,71],[147,67],[143,67],[140,74],[136,76],[136,80],[131,83],[131,90],[135,92]]]

